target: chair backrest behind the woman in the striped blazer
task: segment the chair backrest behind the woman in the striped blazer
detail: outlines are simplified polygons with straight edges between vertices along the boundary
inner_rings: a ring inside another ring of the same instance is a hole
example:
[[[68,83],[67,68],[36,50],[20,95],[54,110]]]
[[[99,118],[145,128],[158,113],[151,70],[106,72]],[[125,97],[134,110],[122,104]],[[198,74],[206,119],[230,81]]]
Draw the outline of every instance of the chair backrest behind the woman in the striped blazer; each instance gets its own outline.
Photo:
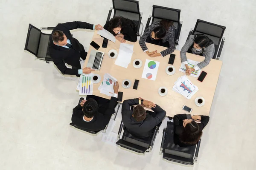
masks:
[[[180,27],[180,9],[153,5],[152,23],[155,23],[161,19],[166,19],[173,22],[173,25],[176,27],[175,40],[177,40],[178,30]]]

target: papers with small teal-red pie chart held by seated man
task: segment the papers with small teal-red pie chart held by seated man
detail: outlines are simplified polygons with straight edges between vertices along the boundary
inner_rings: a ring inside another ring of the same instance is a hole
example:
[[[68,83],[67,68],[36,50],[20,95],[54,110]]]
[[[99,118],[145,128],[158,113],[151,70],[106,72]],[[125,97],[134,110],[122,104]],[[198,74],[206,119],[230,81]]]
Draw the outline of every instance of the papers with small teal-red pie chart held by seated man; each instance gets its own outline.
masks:
[[[114,89],[113,85],[116,84],[117,79],[112,77],[110,74],[104,74],[104,78],[102,83],[99,85],[98,90],[100,93],[105,94],[107,96],[113,96]]]

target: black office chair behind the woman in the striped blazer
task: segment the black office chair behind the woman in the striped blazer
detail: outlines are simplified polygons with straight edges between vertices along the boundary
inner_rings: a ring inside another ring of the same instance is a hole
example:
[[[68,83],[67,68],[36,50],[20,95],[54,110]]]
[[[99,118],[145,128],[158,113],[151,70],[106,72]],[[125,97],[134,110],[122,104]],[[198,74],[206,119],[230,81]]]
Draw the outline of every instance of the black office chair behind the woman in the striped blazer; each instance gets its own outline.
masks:
[[[152,21],[151,21],[151,18],[152,18]],[[148,21],[145,26],[145,29],[148,28],[150,24],[155,23],[156,21],[161,19],[172,21],[173,25],[176,27],[176,30],[175,30],[175,48],[176,48],[176,45],[179,44],[180,30],[183,23],[182,21],[180,21],[180,9],[153,5],[152,15],[148,16]]]

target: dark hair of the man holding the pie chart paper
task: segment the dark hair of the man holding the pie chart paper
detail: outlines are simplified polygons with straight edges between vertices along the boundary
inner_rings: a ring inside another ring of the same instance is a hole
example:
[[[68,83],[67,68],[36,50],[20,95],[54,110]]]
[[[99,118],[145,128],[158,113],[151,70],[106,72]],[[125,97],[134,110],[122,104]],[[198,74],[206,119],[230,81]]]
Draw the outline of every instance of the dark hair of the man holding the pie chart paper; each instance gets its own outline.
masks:
[[[91,118],[98,113],[99,105],[95,99],[89,98],[83,106],[84,116]]]

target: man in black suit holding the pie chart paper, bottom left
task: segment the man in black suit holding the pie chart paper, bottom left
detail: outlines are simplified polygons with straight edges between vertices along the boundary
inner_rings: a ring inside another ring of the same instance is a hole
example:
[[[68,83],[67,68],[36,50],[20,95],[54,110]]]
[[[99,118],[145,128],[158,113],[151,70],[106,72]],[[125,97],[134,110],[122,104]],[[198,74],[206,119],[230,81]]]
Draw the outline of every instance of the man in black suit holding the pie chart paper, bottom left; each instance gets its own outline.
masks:
[[[108,125],[117,104],[119,84],[113,86],[114,95],[110,100],[98,96],[87,96],[73,109],[72,122],[85,130],[98,131]]]

